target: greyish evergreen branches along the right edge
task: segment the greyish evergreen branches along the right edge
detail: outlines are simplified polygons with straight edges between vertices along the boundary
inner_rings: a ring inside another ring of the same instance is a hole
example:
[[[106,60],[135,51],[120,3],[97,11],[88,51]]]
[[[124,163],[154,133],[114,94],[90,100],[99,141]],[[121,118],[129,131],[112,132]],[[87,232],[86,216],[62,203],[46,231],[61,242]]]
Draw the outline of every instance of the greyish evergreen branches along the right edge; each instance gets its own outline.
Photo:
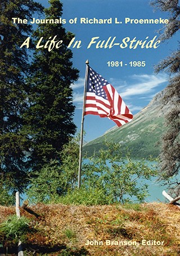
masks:
[[[153,5],[161,11],[169,12],[169,23],[164,27],[161,34],[162,40],[168,40],[180,28],[180,6],[178,0],[155,0]],[[161,150],[161,170],[162,180],[170,184],[170,188],[175,194],[180,194],[180,183],[176,176],[180,170],[180,50],[174,51],[170,57],[164,59],[156,67],[156,71],[166,70],[170,73],[169,85],[163,97],[164,105],[170,104],[172,107],[165,116],[165,124],[168,129],[163,136],[163,146]],[[173,179],[172,179],[173,177]]]

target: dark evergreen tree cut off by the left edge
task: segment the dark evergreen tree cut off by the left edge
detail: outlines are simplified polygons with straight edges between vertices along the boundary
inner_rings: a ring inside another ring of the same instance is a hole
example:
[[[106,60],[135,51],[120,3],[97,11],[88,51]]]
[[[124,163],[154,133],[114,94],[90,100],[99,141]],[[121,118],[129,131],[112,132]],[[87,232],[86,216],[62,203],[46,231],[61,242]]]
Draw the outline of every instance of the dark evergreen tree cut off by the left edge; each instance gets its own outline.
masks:
[[[30,24],[13,24],[12,18],[28,19],[42,6],[33,0],[0,2],[0,174],[1,184],[9,189],[25,186],[28,166],[28,134],[22,132],[26,105],[25,76],[28,54],[20,45],[31,33]]]

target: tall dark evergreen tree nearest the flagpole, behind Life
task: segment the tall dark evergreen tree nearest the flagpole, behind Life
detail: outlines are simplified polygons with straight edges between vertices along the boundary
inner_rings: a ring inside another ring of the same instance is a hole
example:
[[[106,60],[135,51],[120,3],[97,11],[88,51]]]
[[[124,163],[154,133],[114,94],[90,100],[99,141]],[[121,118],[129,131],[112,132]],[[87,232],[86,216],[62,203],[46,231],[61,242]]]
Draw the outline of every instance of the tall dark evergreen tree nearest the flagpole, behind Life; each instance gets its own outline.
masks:
[[[50,7],[44,10],[45,19],[60,20],[62,3],[59,0],[49,3]],[[39,24],[34,41],[37,44],[43,37],[41,46],[55,36],[55,41],[62,40],[62,45],[51,51],[44,47],[37,49],[31,65],[33,75],[28,79],[31,106],[24,117],[31,137],[33,170],[39,170],[45,159],[60,161],[62,146],[76,130],[70,85],[78,79],[78,70],[73,68],[73,54],[67,47],[73,34],[59,23]]]

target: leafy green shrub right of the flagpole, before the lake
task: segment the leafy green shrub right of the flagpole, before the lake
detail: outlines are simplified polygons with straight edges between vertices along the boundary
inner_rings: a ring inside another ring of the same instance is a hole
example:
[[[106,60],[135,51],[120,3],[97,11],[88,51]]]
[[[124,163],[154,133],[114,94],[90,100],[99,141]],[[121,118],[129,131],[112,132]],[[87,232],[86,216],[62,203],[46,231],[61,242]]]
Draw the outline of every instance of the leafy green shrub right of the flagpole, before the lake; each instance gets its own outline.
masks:
[[[143,202],[148,196],[145,180],[155,176],[156,170],[145,160],[122,158],[120,145],[105,141],[107,150],[100,150],[83,166],[83,185],[105,191],[113,202]]]

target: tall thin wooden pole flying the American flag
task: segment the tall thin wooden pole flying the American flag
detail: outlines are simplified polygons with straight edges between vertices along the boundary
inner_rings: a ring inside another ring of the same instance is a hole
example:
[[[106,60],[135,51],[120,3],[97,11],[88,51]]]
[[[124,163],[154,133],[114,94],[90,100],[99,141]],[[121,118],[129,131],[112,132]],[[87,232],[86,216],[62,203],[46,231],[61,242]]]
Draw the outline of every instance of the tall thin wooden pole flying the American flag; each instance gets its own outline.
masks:
[[[81,130],[80,130],[80,145],[79,145],[79,171],[78,171],[78,188],[80,188],[80,180],[81,180],[81,167],[82,167],[82,148],[83,148],[83,129],[84,129],[84,110],[86,103],[86,88],[88,81],[88,66],[89,60],[86,60],[86,74],[84,80],[84,98],[83,98],[83,111],[82,111],[82,122],[81,122]]]

